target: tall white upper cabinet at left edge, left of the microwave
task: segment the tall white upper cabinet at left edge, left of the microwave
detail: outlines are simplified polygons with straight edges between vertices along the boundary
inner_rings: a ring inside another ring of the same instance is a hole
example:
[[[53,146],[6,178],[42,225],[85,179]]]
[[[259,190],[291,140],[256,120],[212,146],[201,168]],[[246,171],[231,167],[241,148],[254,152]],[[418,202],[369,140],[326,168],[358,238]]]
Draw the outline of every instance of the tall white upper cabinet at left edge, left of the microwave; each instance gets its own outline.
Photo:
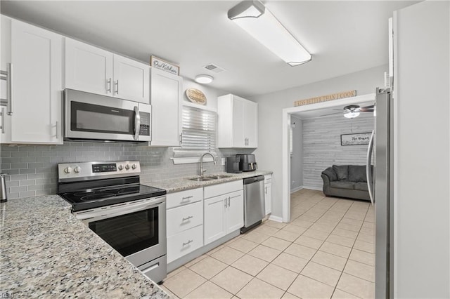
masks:
[[[11,63],[13,70],[6,82],[6,88],[11,86],[11,105],[1,107],[12,114],[2,117],[1,142],[61,144],[63,36],[1,18],[1,69]]]

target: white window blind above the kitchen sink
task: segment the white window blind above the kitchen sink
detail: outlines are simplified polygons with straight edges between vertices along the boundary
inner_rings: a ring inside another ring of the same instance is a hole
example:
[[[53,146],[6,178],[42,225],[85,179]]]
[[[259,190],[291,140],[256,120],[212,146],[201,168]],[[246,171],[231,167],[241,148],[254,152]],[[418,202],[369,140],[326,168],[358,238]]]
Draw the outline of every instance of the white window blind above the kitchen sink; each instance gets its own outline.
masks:
[[[205,152],[216,155],[217,113],[194,107],[183,107],[181,147],[174,157],[198,157]]]

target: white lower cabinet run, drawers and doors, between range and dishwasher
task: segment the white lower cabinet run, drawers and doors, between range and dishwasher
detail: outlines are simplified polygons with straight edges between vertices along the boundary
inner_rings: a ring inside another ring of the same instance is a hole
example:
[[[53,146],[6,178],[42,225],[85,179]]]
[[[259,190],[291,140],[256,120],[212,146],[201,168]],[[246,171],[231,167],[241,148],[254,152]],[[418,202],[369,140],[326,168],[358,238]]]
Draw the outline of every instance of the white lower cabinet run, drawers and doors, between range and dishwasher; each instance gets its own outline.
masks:
[[[243,181],[169,193],[166,206],[167,263],[172,263],[243,227]]]

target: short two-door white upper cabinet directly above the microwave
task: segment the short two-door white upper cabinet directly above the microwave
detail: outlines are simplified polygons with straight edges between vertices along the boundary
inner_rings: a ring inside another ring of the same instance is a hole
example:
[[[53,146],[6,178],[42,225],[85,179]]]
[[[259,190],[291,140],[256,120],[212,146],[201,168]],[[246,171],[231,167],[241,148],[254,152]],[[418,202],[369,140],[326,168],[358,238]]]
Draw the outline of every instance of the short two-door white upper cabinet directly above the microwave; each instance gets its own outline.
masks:
[[[65,88],[147,103],[150,66],[65,39]]]

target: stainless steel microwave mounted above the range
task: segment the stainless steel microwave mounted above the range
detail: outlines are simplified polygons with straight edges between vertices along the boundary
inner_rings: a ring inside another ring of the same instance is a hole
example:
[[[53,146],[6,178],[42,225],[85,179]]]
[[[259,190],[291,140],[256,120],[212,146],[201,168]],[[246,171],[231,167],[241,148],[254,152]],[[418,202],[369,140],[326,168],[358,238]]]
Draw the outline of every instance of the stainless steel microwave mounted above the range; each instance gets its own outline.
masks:
[[[151,141],[151,106],[65,89],[64,139]]]

